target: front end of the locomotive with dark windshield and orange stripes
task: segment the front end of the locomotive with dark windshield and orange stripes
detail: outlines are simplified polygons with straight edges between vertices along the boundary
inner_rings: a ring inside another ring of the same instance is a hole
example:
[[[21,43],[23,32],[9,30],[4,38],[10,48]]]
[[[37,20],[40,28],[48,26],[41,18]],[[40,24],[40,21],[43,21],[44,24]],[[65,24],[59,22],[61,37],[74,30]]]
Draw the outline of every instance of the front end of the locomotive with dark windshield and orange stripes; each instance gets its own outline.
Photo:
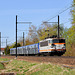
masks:
[[[65,39],[62,38],[53,39],[52,43],[49,44],[51,48],[54,48],[53,51],[57,52],[59,55],[65,53],[66,51]]]

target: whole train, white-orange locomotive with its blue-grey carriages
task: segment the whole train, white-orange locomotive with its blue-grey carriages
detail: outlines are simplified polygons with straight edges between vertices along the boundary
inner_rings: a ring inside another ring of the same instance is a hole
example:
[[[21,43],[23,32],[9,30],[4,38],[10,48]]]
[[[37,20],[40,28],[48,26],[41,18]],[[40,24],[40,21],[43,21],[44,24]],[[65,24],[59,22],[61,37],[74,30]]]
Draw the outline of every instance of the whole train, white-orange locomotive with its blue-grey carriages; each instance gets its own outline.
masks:
[[[64,38],[47,38],[36,44],[17,47],[17,55],[61,56],[65,52],[66,43]],[[10,55],[16,55],[16,48],[10,49]]]

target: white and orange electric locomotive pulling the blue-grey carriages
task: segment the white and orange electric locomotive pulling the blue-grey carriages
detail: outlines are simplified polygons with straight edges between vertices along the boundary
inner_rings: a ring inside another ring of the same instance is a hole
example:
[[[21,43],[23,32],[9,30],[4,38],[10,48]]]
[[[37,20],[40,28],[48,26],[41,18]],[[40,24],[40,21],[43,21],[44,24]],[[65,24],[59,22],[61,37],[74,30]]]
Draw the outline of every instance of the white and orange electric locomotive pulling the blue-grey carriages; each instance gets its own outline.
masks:
[[[63,55],[66,51],[65,39],[63,38],[49,38],[40,41],[40,53],[52,53],[56,55]]]

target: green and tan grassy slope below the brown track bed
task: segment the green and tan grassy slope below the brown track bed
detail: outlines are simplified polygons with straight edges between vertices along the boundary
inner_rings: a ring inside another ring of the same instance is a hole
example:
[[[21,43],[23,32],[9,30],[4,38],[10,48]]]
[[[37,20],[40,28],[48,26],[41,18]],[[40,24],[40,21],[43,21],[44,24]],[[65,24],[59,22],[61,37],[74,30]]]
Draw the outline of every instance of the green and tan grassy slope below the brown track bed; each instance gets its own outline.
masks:
[[[0,61],[6,60],[8,59],[0,58]],[[31,63],[15,59],[6,64],[6,69],[0,70],[0,73],[3,72],[14,72],[17,75],[75,75],[75,69],[64,68],[51,63]]]

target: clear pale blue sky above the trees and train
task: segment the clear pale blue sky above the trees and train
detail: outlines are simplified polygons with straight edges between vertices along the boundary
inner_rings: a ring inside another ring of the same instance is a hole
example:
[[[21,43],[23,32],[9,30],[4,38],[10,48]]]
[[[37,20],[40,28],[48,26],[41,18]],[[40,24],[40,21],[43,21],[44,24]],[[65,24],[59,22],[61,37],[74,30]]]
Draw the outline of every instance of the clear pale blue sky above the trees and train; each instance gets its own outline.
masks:
[[[18,21],[32,22],[32,25],[39,27],[42,21],[49,20],[71,4],[72,0],[0,0],[1,36],[9,37],[8,44],[15,41],[16,15],[18,15]],[[70,16],[70,10],[60,14],[60,23],[67,22],[71,19]],[[57,17],[51,21],[57,22]],[[64,26],[70,27],[71,24],[66,23]],[[28,24],[18,25],[20,30],[28,30],[28,27]],[[18,36],[22,36],[22,33],[23,31],[18,31]],[[6,39],[2,38],[1,41],[6,42]],[[2,43],[2,47],[5,47],[5,45],[5,43]]]

